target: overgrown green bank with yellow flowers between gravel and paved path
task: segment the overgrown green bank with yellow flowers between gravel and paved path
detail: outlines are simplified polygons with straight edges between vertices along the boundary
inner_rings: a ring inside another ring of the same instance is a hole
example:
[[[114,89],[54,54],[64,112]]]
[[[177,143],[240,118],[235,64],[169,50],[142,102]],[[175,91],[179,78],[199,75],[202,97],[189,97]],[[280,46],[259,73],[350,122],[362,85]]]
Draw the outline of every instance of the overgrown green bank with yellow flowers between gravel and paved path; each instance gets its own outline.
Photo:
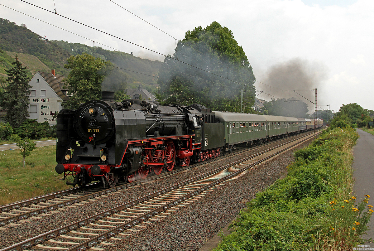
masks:
[[[362,243],[374,211],[370,195],[352,195],[357,139],[354,129],[335,128],[296,151],[287,177],[248,202],[215,250],[353,250]]]

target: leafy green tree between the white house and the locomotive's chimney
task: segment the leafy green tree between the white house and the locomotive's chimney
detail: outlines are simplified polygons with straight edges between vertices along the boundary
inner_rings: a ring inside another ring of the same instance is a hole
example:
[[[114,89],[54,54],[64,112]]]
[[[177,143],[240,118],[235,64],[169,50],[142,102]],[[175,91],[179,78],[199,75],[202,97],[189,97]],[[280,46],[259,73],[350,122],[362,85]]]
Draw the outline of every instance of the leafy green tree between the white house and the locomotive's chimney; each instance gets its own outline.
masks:
[[[64,106],[77,109],[81,103],[101,98],[101,82],[110,72],[110,61],[104,61],[87,53],[71,56],[64,68],[71,69],[67,78],[63,79],[64,88],[72,95]]]

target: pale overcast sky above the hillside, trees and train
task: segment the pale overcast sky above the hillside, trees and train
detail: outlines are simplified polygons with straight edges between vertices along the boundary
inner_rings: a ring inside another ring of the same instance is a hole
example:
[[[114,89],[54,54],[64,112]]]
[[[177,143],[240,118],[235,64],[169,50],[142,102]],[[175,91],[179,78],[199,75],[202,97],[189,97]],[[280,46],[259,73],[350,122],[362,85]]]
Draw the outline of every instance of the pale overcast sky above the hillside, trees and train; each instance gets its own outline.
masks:
[[[337,111],[341,104],[356,102],[374,110],[374,1],[113,0],[126,10],[110,0],[27,1],[163,55],[174,53],[174,38],[183,39],[187,30],[217,21],[229,28],[243,47],[258,80],[255,86],[264,91],[257,92],[258,98],[303,99],[293,90],[317,88],[319,109],[330,104],[331,110]],[[2,0],[0,4],[85,37],[0,5],[1,18],[24,23],[49,40],[89,46],[95,41],[95,46],[134,52],[141,58],[165,58],[20,0]],[[297,92],[314,101],[313,91]]]

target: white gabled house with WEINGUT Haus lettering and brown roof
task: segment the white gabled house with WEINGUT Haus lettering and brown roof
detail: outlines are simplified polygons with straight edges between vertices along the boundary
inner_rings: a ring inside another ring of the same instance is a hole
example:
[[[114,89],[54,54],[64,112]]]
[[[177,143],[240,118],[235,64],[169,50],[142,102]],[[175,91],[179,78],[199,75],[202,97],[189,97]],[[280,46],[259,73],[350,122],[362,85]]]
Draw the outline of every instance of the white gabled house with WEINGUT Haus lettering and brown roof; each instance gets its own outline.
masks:
[[[49,122],[56,125],[56,119],[52,116],[62,108],[62,102],[69,99],[66,90],[62,88],[63,75],[37,71],[30,80],[30,119],[38,119],[38,122]]]

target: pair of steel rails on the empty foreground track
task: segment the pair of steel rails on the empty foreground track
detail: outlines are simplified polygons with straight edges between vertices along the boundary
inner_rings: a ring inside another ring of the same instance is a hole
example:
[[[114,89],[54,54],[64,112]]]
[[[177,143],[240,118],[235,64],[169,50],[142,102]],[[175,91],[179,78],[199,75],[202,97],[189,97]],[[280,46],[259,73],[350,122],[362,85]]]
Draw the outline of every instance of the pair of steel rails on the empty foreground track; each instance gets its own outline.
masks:
[[[303,140],[300,139],[300,138],[298,138],[298,139],[292,140],[292,141],[290,141],[288,143],[281,144],[281,146],[273,147],[272,149],[268,149],[268,150],[262,151],[261,153],[257,153],[257,154],[254,154],[252,156],[243,158],[243,159],[238,160],[238,161],[236,161],[234,163],[231,163],[229,165],[217,168],[217,169],[215,169],[213,171],[206,172],[205,174],[198,175],[197,177],[191,178],[191,179],[183,181],[181,183],[174,184],[174,185],[169,186],[169,187],[167,187],[165,189],[161,189],[161,190],[159,190],[157,192],[150,193],[149,195],[142,196],[142,197],[140,197],[138,199],[135,199],[133,201],[123,203],[122,205],[116,206],[116,207],[111,208],[111,209],[107,209],[107,210],[102,211],[100,213],[97,213],[95,215],[86,217],[86,218],[84,218],[82,220],[76,221],[74,223],[70,223],[70,224],[68,224],[66,226],[59,227],[59,228],[51,230],[49,232],[40,234],[40,235],[38,235],[38,236],[36,236],[34,238],[30,238],[28,240],[19,242],[18,244],[14,244],[14,245],[12,245],[10,247],[3,248],[0,251],[25,250],[25,249],[33,247],[33,245],[40,245],[40,244],[42,244],[45,241],[48,241],[48,240],[50,240],[52,238],[56,238],[56,237],[58,237],[60,235],[63,235],[65,233],[67,233],[67,232],[70,232],[70,231],[73,231],[75,229],[78,229],[79,227],[84,227],[84,226],[86,226],[86,224],[90,224],[90,223],[92,223],[92,222],[94,222],[96,220],[100,220],[100,219],[102,219],[104,217],[108,217],[109,215],[115,214],[118,211],[121,211],[121,210],[127,209],[127,208],[131,208],[131,206],[138,205],[138,204],[143,203],[145,201],[148,201],[150,199],[156,198],[157,196],[160,196],[160,195],[163,195],[165,193],[168,193],[168,192],[170,192],[172,190],[175,190],[175,189],[178,189],[178,188],[190,185],[193,182],[202,180],[203,178],[209,177],[209,176],[211,176],[213,174],[217,174],[220,171],[226,170],[227,168],[231,168],[234,165],[238,165],[240,163],[243,163],[246,160],[253,159],[254,157],[260,156],[261,154],[266,154],[269,151],[273,151],[273,150],[275,150],[277,148],[284,147],[283,149],[278,150],[275,153],[269,154],[266,157],[261,158],[260,160],[255,161],[254,163],[250,163],[248,165],[244,165],[244,167],[243,166],[242,167],[238,167],[236,170],[230,171],[229,174],[221,175],[221,177],[215,178],[214,181],[209,182],[209,183],[205,183],[205,184],[203,184],[202,186],[200,186],[200,187],[198,187],[196,189],[192,189],[191,190],[191,187],[190,188],[185,188],[185,189],[189,189],[190,191],[187,192],[187,193],[185,193],[182,196],[179,196],[178,198],[172,199],[171,201],[167,201],[166,203],[164,203],[163,205],[158,206],[157,208],[154,208],[154,209],[151,209],[151,210],[149,210],[147,212],[144,212],[143,214],[140,214],[137,217],[132,218],[131,220],[126,221],[125,223],[119,224],[118,226],[114,226],[113,228],[111,228],[111,229],[109,229],[109,230],[107,230],[107,231],[105,231],[103,233],[99,233],[96,236],[94,236],[94,237],[92,237],[92,238],[90,238],[90,239],[88,239],[86,241],[83,241],[83,242],[81,242],[81,243],[79,243],[77,245],[74,245],[74,247],[66,249],[67,251],[73,251],[73,250],[83,251],[83,250],[86,250],[86,248],[91,248],[94,245],[96,245],[96,244],[98,244],[100,242],[103,242],[106,239],[111,238],[111,237],[113,237],[116,234],[122,233],[123,231],[131,228],[132,226],[135,226],[138,223],[140,223],[140,222],[142,222],[144,220],[147,220],[147,219],[153,217],[154,215],[159,214],[160,212],[166,211],[169,208],[177,205],[178,203],[186,201],[188,198],[196,196],[197,194],[199,194],[199,193],[201,193],[201,192],[203,192],[203,191],[205,191],[207,189],[210,189],[211,187],[216,186],[217,184],[220,184],[223,181],[226,181],[226,180],[228,180],[230,178],[233,178],[234,176],[240,174],[241,172],[246,171],[246,170],[252,168],[255,165],[258,165],[259,163],[261,163],[261,162],[263,162],[263,161],[265,161],[265,160],[267,160],[267,159],[269,159],[269,158],[271,158],[273,156],[276,156],[277,154],[282,153],[283,151],[285,151],[285,150],[287,150],[287,149],[289,149],[291,147],[294,147],[294,146],[296,146],[298,144],[301,144],[302,142],[304,142],[304,141],[306,141],[306,140],[308,140],[308,139],[310,139],[312,137],[314,137],[314,136],[304,136],[303,138],[305,138],[305,139],[303,139]],[[298,141],[298,142],[296,142],[296,143],[293,144],[292,142],[294,142],[294,141]]]

